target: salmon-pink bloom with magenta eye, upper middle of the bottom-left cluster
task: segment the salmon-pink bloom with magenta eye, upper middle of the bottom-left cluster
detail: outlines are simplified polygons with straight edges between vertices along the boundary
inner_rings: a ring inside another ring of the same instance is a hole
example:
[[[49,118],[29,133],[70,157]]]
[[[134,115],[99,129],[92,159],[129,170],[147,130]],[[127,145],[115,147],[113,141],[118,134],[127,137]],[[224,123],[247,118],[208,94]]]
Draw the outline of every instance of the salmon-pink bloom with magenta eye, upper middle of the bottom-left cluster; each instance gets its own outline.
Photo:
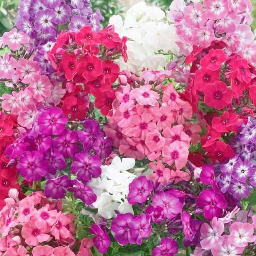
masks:
[[[44,226],[52,226],[56,222],[57,210],[50,210],[50,205],[38,209],[32,216],[32,220],[37,228],[43,229]]]

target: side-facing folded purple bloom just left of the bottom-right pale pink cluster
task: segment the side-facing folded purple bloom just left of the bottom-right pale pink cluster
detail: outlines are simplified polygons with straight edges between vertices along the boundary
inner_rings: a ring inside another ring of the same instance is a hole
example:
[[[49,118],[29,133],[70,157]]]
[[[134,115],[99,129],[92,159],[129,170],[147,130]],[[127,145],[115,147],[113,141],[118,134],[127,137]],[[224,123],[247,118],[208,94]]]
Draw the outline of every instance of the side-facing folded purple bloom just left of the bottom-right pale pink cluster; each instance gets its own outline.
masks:
[[[188,212],[181,213],[181,221],[185,237],[192,241],[194,239],[194,235],[200,229],[203,222],[200,220],[191,219],[191,215]]]

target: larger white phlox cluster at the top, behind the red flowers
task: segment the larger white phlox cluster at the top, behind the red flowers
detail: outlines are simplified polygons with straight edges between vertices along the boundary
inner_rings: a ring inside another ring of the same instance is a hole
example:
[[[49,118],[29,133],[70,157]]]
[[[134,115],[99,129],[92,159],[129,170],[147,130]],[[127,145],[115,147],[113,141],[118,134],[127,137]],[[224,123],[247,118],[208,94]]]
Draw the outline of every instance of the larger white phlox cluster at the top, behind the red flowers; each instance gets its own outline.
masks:
[[[157,70],[166,65],[166,57],[158,50],[178,52],[176,28],[164,21],[165,13],[158,7],[146,6],[144,1],[133,5],[123,22],[119,15],[110,18],[110,24],[120,36],[127,36],[128,62],[119,59],[121,70],[138,73],[143,68]]]

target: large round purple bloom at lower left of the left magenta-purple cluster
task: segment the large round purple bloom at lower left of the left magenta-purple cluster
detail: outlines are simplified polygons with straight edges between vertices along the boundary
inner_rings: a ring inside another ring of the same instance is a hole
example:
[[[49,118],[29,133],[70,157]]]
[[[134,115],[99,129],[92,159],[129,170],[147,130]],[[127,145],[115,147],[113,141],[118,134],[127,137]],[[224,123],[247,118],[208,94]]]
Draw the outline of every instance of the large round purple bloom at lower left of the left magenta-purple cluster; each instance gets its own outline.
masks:
[[[19,174],[28,181],[40,180],[47,174],[47,162],[38,151],[26,151],[17,164]]]

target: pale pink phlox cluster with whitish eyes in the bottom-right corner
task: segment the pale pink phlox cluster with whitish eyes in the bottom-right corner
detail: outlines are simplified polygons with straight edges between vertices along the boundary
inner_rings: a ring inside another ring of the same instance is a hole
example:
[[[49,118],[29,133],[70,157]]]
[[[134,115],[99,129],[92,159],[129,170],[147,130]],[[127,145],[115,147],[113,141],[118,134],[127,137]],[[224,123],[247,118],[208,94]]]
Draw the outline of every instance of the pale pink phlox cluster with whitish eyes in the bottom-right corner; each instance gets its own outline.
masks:
[[[236,218],[235,218],[236,216]],[[241,255],[249,243],[255,242],[256,215],[236,207],[223,218],[214,217],[210,224],[200,228],[200,246],[194,255],[202,256],[210,251],[213,256]]]

